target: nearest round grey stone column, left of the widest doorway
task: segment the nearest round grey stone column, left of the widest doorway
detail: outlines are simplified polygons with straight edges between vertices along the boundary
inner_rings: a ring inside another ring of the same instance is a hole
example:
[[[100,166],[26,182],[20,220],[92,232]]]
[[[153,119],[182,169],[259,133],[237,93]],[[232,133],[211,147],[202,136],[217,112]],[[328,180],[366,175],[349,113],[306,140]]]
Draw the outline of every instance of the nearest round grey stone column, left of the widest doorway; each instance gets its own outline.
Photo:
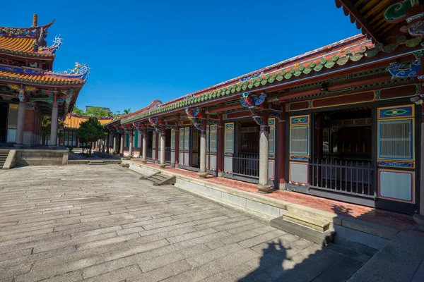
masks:
[[[268,111],[262,112],[262,125],[259,137],[259,192],[269,192],[271,186],[268,184]]]

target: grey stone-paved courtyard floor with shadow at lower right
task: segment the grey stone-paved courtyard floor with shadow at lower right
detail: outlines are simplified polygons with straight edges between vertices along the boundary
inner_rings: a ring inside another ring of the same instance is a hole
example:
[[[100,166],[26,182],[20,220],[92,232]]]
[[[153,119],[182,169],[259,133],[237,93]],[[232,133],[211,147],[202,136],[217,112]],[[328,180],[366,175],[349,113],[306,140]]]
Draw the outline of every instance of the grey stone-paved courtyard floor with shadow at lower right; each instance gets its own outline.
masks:
[[[362,265],[117,165],[0,171],[0,281],[345,281]]]

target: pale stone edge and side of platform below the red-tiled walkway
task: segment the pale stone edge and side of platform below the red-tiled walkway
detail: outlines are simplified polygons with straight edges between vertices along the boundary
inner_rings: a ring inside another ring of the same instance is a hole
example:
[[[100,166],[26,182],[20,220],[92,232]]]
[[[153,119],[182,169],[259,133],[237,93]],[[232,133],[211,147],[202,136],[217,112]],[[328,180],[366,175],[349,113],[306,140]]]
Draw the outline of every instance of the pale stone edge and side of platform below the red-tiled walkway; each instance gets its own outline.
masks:
[[[266,220],[276,219],[279,216],[283,216],[286,212],[309,216],[320,222],[322,221],[322,228],[329,232],[336,232],[338,238],[359,243],[375,250],[382,249],[400,231],[398,228],[390,228],[361,220],[360,216],[354,218],[347,214],[325,212],[323,210],[305,207],[301,204],[277,200],[269,197],[269,195],[229,188],[224,185],[208,182],[207,180],[184,176],[175,173],[177,171],[176,168],[161,169],[153,167],[151,164],[140,164],[136,161],[126,162],[129,164],[131,170],[138,171],[143,175],[161,172],[167,176],[176,176],[175,187],[177,188],[254,214],[255,216],[260,216]],[[343,203],[340,202],[340,204],[342,205]],[[367,219],[366,216],[363,217]]]

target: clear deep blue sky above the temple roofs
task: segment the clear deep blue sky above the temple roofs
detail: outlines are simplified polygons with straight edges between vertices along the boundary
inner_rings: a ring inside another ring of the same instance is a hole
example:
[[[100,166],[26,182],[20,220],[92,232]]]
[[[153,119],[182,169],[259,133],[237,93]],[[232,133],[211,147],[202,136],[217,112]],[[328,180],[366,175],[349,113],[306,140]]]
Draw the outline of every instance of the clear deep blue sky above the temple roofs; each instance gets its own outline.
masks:
[[[207,3],[204,3],[207,2]],[[16,6],[18,3],[18,7]],[[0,26],[56,22],[54,71],[88,63],[77,106],[131,111],[209,87],[359,30],[334,0],[4,1]]]

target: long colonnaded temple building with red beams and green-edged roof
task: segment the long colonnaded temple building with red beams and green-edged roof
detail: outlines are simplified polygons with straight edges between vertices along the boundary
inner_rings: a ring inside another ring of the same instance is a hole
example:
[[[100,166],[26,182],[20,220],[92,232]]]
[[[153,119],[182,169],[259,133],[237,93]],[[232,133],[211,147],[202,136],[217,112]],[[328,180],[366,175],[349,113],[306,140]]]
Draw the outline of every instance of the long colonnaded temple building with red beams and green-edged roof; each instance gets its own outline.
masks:
[[[107,123],[114,150],[136,133],[143,162],[423,213],[424,5],[395,2],[336,0],[363,34]]]

